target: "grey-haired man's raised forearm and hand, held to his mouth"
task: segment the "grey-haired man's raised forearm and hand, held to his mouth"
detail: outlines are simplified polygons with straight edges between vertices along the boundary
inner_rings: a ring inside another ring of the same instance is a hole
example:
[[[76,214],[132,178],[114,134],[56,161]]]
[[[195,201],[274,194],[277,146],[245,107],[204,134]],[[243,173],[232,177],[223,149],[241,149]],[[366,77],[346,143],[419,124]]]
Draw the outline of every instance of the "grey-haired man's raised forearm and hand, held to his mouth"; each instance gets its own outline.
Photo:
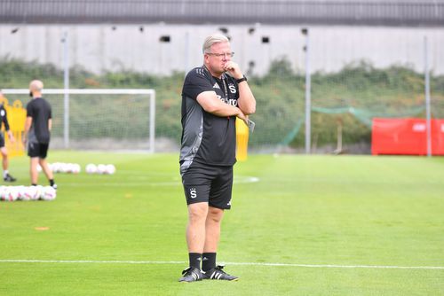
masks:
[[[235,80],[243,78],[243,74],[239,65],[233,61],[226,63],[226,72],[234,77]],[[242,113],[250,115],[256,112],[256,98],[250,90],[250,85],[247,81],[239,82],[239,99],[237,101],[239,109]]]

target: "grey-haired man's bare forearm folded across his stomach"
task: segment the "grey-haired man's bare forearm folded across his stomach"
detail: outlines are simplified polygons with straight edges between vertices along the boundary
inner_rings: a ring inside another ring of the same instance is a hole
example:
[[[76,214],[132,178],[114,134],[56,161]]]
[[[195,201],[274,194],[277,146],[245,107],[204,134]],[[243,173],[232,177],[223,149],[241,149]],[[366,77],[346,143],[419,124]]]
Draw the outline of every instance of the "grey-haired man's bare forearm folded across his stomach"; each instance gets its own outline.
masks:
[[[218,99],[216,92],[214,91],[203,91],[197,97],[197,102],[202,106],[203,110],[208,113],[226,117],[226,116],[237,116],[242,121],[247,121],[247,116],[242,113],[241,109],[235,107],[234,105],[228,105]]]

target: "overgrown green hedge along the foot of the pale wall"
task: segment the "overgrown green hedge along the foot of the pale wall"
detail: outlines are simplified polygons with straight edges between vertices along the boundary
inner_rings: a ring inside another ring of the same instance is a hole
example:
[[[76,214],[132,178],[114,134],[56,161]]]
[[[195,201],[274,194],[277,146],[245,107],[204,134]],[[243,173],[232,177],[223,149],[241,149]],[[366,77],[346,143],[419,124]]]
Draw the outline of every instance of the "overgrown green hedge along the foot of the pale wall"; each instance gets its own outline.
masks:
[[[0,88],[28,88],[32,79],[46,88],[63,88],[63,71],[56,66],[18,59],[0,59]],[[155,89],[156,136],[179,141],[181,89],[184,73],[170,76],[136,73],[92,74],[82,67],[70,69],[72,89]],[[285,58],[275,60],[262,77],[249,77],[258,101],[255,135],[251,145],[304,146],[305,74],[295,73]],[[444,76],[432,74],[432,114],[444,118]],[[370,141],[369,122],[374,116],[424,117],[424,74],[407,66],[378,69],[365,61],[345,66],[337,73],[312,75],[312,139],[315,144],[335,144],[337,125],[343,125],[343,142]],[[301,125],[302,123],[302,125]],[[75,131],[72,132],[75,134]]]

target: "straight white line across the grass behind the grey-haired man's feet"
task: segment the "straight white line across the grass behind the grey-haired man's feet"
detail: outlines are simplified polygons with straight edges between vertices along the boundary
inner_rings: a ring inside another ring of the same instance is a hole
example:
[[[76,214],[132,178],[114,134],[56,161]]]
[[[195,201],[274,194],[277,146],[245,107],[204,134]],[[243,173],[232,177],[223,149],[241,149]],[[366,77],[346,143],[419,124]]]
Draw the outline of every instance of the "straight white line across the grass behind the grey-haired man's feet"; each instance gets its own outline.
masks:
[[[186,264],[186,261],[95,261],[95,260],[34,260],[0,259],[0,263],[99,263],[99,264]],[[297,267],[317,269],[444,269],[444,266],[396,266],[396,265],[335,265],[335,264],[296,264],[266,262],[226,262],[228,265]]]

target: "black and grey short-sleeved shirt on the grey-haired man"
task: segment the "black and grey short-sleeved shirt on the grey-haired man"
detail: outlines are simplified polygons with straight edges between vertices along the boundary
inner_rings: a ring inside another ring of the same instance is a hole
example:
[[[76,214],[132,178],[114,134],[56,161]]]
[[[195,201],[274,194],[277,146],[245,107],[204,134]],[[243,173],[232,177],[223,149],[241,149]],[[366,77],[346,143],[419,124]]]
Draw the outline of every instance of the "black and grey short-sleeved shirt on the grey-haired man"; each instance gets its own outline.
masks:
[[[236,116],[219,117],[203,110],[196,99],[203,91],[215,91],[224,103],[238,105],[238,85],[230,75],[218,79],[203,66],[186,74],[182,89],[182,173],[193,161],[214,166],[233,166],[236,162]]]

